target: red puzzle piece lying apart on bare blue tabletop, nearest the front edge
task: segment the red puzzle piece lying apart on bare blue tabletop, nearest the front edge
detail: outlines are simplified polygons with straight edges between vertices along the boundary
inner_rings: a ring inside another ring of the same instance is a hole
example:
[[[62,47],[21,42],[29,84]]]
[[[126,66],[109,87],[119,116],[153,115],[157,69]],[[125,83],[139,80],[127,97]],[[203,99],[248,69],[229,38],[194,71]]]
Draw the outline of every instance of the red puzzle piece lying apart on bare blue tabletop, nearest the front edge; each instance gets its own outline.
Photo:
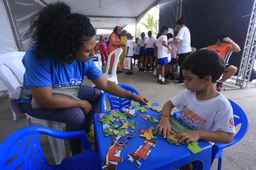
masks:
[[[135,166],[139,168],[141,166],[140,159],[146,159],[148,155],[151,153],[151,150],[149,147],[155,147],[157,144],[157,141],[151,139],[151,140],[145,140],[144,141],[145,145],[140,146],[134,153],[129,153],[127,156],[129,158],[127,159],[128,162],[132,163],[133,161],[136,161]]]

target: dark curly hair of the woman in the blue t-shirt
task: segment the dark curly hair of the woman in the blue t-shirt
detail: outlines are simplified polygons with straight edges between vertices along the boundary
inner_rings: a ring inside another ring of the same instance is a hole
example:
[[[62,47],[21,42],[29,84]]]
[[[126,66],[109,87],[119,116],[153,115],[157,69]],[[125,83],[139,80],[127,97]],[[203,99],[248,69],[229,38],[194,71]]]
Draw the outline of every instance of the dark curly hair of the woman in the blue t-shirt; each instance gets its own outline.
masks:
[[[38,58],[50,53],[59,61],[75,60],[83,42],[95,35],[90,19],[70,10],[63,2],[48,4],[32,20],[26,35],[36,45]]]

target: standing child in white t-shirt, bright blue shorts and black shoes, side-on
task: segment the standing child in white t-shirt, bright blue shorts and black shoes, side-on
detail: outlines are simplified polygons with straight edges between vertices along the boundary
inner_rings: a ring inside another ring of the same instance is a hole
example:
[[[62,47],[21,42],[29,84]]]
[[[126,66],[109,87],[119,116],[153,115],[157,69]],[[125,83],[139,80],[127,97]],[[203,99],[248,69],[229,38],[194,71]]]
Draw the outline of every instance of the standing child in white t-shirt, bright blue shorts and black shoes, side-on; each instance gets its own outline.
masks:
[[[161,36],[157,39],[157,57],[159,72],[157,82],[160,84],[170,84],[165,80],[165,66],[168,64],[168,58],[170,60],[171,48],[167,45],[167,32],[168,27],[162,26],[160,29]],[[169,57],[168,57],[169,56]],[[169,61],[170,62],[170,61]]]

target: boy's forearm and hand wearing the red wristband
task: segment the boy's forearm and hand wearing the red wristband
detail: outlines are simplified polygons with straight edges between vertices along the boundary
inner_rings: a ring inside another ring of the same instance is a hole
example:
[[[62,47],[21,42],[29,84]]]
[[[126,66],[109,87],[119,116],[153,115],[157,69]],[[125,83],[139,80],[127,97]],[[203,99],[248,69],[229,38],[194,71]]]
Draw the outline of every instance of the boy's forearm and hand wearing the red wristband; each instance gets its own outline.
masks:
[[[162,109],[162,114],[168,114],[170,115],[172,109],[174,108],[175,106],[173,105],[172,101],[168,101],[166,102],[164,105],[163,105],[163,109]],[[163,131],[163,138],[169,138],[170,136],[170,133],[174,133],[172,131],[172,128],[171,128],[171,125],[170,125],[170,122],[169,122],[169,117],[166,117],[166,116],[163,116],[161,118],[161,121],[159,122],[159,124],[156,126],[156,129],[155,131],[157,131],[159,128],[159,134],[161,135],[162,131]]]

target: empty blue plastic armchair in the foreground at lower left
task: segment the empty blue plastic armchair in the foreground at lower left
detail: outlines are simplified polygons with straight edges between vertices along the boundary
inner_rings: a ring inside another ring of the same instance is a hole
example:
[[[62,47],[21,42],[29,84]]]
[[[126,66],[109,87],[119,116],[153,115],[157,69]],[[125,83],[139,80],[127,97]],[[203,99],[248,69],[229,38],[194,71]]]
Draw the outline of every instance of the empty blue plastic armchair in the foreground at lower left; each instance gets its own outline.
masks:
[[[50,165],[40,145],[39,134],[59,139],[81,139],[84,152]],[[30,126],[9,135],[0,146],[1,170],[98,170],[98,152],[92,151],[85,131],[61,132],[43,126]],[[18,168],[19,167],[19,168]]]

